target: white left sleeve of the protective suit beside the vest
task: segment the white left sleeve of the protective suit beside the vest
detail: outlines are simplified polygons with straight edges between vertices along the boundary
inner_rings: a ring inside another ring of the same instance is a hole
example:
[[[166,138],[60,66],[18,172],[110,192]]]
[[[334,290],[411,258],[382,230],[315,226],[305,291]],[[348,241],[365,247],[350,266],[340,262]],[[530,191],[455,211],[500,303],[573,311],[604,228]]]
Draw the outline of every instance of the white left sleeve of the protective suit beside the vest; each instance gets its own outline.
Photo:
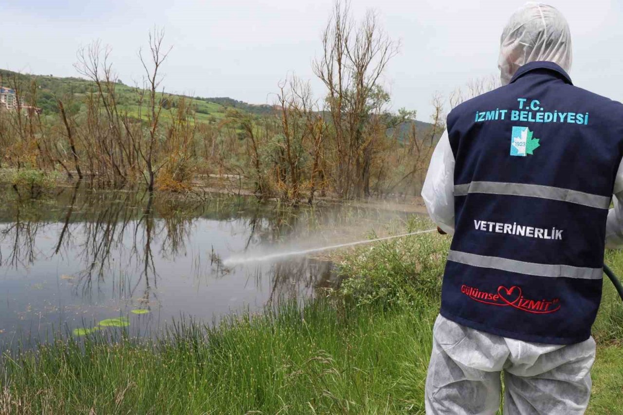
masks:
[[[422,198],[430,219],[447,234],[454,234],[454,154],[448,131],[444,131],[432,153]]]

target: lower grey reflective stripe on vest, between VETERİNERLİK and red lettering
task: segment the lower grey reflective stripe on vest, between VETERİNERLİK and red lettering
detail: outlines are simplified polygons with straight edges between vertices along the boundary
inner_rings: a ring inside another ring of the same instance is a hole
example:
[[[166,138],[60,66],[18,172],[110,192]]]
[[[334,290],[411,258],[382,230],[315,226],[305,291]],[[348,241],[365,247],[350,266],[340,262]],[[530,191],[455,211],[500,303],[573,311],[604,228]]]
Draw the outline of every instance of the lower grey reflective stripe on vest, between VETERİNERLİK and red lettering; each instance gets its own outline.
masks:
[[[601,279],[601,268],[573,267],[571,265],[538,264],[536,262],[518,261],[500,257],[469,254],[459,250],[450,250],[448,260],[473,267],[498,269],[518,274],[538,275],[540,277],[568,277],[580,279]]]

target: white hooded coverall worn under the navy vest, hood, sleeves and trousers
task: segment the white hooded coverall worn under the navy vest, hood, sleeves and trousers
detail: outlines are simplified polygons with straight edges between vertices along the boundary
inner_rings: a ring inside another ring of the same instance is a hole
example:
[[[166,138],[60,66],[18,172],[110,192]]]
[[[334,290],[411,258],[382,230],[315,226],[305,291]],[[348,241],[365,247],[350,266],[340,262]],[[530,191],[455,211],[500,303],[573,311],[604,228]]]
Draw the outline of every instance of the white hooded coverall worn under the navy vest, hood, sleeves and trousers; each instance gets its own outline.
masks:
[[[571,35],[554,7],[528,3],[506,25],[498,67],[506,85],[528,62],[546,60],[571,67]],[[623,163],[607,218],[606,246],[623,245]],[[422,189],[430,217],[454,234],[454,155],[447,131],[432,155]],[[464,327],[441,315],[433,329],[426,379],[427,414],[495,414],[504,372],[505,414],[583,414],[591,393],[595,341],[546,345]]]

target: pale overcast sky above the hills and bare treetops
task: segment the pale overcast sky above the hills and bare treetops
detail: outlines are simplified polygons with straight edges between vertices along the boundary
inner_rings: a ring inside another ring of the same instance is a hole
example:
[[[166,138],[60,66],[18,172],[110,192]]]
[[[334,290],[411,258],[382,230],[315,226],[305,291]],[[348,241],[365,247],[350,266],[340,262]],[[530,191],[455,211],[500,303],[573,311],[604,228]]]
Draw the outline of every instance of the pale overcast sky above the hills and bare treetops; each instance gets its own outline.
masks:
[[[383,79],[392,110],[428,120],[434,93],[445,97],[472,79],[498,76],[500,34],[519,0],[352,0],[355,19],[373,9],[401,44]],[[623,2],[551,0],[571,27],[575,85],[623,100]],[[77,76],[81,45],[99,39],[126,84],[141,82],[138,50],[164,27],[173,45],[163,65],[166,91],[274,103],[278,83],[312,72],[333,0],[0,0],[0,68]]]

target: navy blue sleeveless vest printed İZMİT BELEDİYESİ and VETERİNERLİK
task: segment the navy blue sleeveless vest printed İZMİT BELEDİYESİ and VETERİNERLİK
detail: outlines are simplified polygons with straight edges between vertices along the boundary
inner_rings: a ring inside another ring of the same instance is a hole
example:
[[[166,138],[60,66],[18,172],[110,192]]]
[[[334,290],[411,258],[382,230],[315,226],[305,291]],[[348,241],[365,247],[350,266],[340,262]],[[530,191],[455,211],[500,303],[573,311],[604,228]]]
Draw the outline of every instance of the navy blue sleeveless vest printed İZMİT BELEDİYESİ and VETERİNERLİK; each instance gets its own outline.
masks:
[[[589,338],[623,105],[574,87],[552,62],[531,62],[454,108],[447,129],[455,234],[441,314],[525,341]]]

